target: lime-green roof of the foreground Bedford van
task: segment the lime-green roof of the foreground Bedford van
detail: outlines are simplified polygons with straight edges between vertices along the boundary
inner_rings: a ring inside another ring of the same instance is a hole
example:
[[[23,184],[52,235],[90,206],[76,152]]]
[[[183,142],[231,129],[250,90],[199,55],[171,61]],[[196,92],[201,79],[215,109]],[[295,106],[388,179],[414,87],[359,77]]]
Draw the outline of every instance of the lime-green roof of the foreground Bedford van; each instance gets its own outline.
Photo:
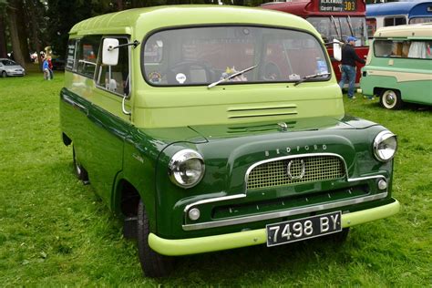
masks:
[[[139,26],[139,30],[151,31],[160,27],[197,24],[292,26],[312,30],[319,37],[314,26],[298,16],[262,8],[228,5],[169,5],[129,9],[81,21],[72,27],[69,34],[130,35],[134,26]]]

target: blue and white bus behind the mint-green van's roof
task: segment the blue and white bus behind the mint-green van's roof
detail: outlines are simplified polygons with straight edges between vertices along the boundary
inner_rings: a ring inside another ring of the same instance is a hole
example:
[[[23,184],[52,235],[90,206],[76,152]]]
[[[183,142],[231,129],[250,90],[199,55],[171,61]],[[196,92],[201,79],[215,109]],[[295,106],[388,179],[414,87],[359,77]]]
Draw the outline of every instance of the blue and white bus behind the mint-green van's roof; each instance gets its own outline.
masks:
[[[432,1],[389,2],[366,5],[368,35],[378,28],[432,22]]]

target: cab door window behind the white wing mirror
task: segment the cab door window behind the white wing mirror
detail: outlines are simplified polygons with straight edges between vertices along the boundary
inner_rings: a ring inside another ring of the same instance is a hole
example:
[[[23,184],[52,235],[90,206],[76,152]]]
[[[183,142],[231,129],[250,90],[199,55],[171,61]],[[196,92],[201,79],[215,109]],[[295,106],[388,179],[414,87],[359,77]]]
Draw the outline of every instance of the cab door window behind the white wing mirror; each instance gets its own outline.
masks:
[[[103,41],[103,39],[102,39]],[[102,89],[119,95],[129,95],[129,47],[127,37],[118,37],[118,64],[107,66],[102,64],[102,57],[98,59],[97,85]]]

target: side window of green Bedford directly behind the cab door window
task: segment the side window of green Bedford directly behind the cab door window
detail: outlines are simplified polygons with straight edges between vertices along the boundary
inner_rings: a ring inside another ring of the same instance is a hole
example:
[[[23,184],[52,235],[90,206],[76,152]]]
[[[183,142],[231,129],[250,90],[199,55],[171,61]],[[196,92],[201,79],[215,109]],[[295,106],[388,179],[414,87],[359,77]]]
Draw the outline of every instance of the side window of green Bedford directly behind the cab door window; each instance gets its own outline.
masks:
[[[101,36],[87,36],[77,44],[77,73],[93,78],[96,70],[96,60]]]

